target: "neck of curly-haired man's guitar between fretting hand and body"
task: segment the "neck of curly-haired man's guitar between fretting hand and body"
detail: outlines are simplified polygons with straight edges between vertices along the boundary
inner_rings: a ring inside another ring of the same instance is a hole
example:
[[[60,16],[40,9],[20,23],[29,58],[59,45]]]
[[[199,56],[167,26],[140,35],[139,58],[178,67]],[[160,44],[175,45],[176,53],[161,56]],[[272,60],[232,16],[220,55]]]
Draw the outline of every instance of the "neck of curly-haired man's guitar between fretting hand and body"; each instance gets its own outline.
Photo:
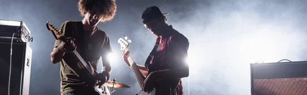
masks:
[[[89,73],[91,75],[95,75],[95,73],[97,73],[97,71],[91,66],[91,64],[87,64],[87,62],[85,62],[85,60],[81,57],[81,55],[75,50],[73,51],[73,54],[79,59],[79,61],[83,64],[83,66],[89,71]]]

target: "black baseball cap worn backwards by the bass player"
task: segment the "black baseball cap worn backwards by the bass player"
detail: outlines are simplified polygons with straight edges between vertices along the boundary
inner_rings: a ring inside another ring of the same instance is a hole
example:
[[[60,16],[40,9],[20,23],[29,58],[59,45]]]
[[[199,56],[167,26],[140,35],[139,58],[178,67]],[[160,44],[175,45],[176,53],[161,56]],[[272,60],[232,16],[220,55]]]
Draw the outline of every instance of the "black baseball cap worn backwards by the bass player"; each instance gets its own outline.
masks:
[[[160,9],[157,6],[151,6],[146,8],[145,11],[142,13],[142,22],[145,23],[147,21],[152,20],[153,18],[160,17],[162,15],[167,15],[168,13],[162,14]]]

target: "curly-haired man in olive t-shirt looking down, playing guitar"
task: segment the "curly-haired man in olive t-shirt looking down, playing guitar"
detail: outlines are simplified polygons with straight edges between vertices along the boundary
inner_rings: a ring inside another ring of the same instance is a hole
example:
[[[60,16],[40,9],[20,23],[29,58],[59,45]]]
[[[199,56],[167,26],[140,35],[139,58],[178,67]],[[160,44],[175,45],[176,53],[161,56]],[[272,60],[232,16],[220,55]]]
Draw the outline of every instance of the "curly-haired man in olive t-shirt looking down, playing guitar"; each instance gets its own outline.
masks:
[[[80,61],[71,54],[77,51],[86,62],[90,62],[96,70],[100,57],[102,58],[102,73],[95,78],[104,84],[112,72],[107,55],[112,53],[108,35],[98,29],[99,22],[113,19],[117,11],[115,0],[80,0],[78,3],[80,14],[84,17],[81,21],[65,21],[59,31],[68,41],[56,40],[51,52],[52,63],[60,62],[60,92],[69,94],[92,94],[88,84],[84,81],[85,72],[77,65]],[[68,65],[72,64],[72,65]]]

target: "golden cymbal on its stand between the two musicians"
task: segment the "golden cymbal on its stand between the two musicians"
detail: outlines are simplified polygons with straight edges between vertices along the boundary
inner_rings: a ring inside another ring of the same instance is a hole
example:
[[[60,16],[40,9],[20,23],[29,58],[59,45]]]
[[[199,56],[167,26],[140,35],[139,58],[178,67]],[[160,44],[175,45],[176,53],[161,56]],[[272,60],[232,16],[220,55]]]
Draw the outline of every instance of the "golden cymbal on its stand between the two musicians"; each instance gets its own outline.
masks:
[[[114,88],[130,88],[130,86],[127,84],[123,84],[123,83],[119,83],[115,81],[116,79],[113,79],[113,81],[106,82],[106,86],[112,87],[110,93],[113,93],[114,91],[116,91]]]

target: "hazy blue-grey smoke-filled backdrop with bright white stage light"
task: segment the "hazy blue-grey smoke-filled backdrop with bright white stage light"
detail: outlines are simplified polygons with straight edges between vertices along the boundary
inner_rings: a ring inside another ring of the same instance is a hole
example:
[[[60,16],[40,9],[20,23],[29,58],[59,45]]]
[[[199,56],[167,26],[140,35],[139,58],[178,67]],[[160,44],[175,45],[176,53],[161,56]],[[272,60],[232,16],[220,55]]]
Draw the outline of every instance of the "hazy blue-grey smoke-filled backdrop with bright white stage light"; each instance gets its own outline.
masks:
[[[1,0],[0,19],[23,20],[34,38],[30,94],[60,94],[60,64],[52,64],[54,36],[46,28],[66,20],[81,20],[77,0]],[[114,51],[112,78],[131,88],[116,94],[140,91],[137,80],[121,59],[117,40],[127,35],[137,64],[144,65],[156,37],[140,20],[146,7],[158,6],[169,25],[184,34],[189,46],[189,78],[185,94],[251,94],[250,63],[281,59],[304,61],[307,54],[307,1],[117,1],[112,21],[98,27],[108,34]],[[98,65],[100,71],[101,65]]]

